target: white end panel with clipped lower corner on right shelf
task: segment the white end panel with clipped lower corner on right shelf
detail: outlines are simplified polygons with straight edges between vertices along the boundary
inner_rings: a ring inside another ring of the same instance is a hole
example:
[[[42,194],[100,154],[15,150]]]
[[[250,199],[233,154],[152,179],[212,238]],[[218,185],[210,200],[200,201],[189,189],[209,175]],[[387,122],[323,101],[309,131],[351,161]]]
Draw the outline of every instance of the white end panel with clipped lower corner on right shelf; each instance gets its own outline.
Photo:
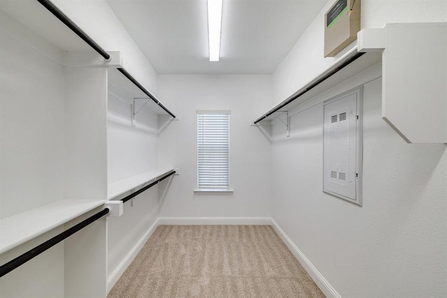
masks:
[[[361,51],[383,53],[383,120],[407,143],[447,143],[447,22],[386,24],[359,37]]]

